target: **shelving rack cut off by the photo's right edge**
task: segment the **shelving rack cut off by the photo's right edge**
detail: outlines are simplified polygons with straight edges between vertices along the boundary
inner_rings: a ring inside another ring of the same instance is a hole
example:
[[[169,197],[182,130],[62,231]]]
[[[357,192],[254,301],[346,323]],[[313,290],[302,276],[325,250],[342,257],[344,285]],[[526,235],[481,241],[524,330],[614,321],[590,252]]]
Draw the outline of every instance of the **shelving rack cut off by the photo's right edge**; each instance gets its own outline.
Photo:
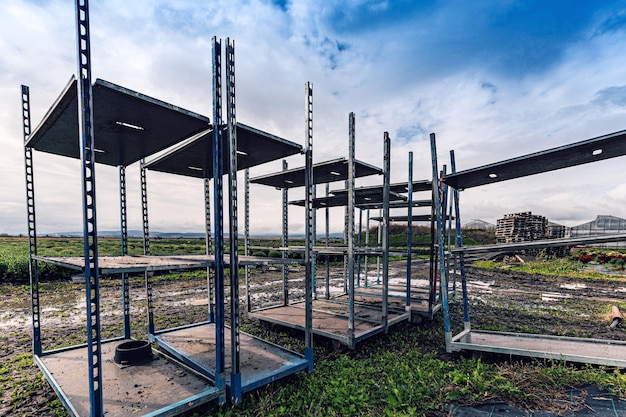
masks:
[[[431,154],[433,184],[436,184],[438,165],[434,134],[431,134]],[[463,331],[456,335],[452,334],[447,292],[442,291],[444,330],[446,350],[448,352],[476,350],[597,365],[626,366],[626,342],[623,341],[550,336],[543,334],[492,332],[472,328],[464,265],[464,255],[470,253],[625,241],[626,234],[463,247],[459,208],[459,191],[463,189],[590,162],[597,162],[623,155],[626,155],[626,131],[615,132],[464,171],[456,171],[454,152],[450,153],[452,172],[442,176],[441,183],[438,186],[438,192],[435,194],[439,195],[440,198],[437,198],[435,203],[437,223],[439,226],[444,221],[446,210],[444,203],[445,198],[442,196],[446,194],[446,187],[452,188],[452,204],[456,218],[456,246],[454,248],[448,248],[447,251],[445,250],[444,246],[446,242],[444,240],[443,230],[438,227],[439,268],[442,288],[447,288],[450,268],[446,262],[446,252],[458,257],[463,294]],[[435,185],[433,187],[435,187]],[[439,191],[441,191],[441,193]]]

